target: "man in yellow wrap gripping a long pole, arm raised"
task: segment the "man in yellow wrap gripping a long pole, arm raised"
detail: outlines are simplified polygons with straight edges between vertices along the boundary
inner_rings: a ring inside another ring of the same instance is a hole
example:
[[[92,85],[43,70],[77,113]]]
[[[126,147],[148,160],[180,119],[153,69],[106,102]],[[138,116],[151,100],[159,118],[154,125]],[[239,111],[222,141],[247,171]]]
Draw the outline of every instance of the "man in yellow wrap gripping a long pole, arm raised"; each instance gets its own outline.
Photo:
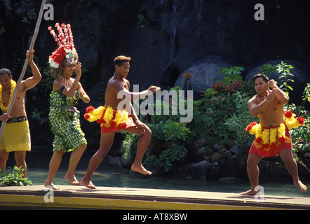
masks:
[[[25,110],[25,94],[27,90],[32,89],[41,80],[41,73],[33,60],[34,50],[27,50],[27,57],[29,58],[33,76],[22,80],[18,86],[15,102],[9,114],[6,111],[8,111],[11,104],[16,83],[12,79],[10,70],[0,70],[0,108],[2,111],[0,120],[6,121],[0,139],[0,169],[6,170],[8,155],[14,151],[16,166],[25,169],[23,176],[27,171],[26,151],[31,149],[29,124]]]

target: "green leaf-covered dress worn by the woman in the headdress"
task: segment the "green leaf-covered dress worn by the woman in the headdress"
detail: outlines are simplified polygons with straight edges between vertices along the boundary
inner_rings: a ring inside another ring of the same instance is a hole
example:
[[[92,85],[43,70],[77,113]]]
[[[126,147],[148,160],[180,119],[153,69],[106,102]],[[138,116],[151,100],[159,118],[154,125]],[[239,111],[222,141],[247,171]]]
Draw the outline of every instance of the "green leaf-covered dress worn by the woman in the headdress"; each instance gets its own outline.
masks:
[[[76,109],[79,91],[74,97],[67,97],[60,91],[50,93],[50,113],[48,119],[55,139],[53,151],[70,152],[87,144],[80,125],[80,112]]]

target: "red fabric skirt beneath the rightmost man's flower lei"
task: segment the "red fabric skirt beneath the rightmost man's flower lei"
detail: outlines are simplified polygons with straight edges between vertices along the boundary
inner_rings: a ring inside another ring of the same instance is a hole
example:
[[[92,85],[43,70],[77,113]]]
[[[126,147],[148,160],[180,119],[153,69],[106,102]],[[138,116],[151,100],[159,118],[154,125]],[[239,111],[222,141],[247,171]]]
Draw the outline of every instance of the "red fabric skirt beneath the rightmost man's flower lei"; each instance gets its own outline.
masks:
[[[270,130],[272,128],[276,128],[276,127],[262,127],[262,130],[267,130],[267,129]],[[250,148],[249,153],[253,153],[256,155],[262,155],[264,157],[271,157],[275,155],[280,155],[280,152],[285,148],[290,148],[290,150],[292,150],[292,139],[290,137],[290,132],[288,132],[288,127],[286,127],[286,130],[285,130],[285,137],[286,137],[285,142],[276,141],[276,146],[272,148],[270,147],[270,145],[263,146],[261,142],[258,143],[257,140],[255,139],[255,141],[253,142]]]

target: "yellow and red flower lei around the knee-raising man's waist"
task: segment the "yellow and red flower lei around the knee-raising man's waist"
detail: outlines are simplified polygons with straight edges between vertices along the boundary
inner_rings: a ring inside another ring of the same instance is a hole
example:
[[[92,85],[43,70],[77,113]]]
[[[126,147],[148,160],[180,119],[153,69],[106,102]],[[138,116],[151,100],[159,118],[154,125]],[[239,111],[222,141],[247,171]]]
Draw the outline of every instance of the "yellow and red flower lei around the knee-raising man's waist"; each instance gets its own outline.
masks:
[[[116,126],[123,125],[128,122],[128,112],[126,110],[116,111],[115,118],[112,120],[114,113],[111,106],[99,106],[95,109],[93,106],[88,106],[84,118],[89,122],[97,121],[100,123],[100,127],[110,127],[111,122],[116,123]]]

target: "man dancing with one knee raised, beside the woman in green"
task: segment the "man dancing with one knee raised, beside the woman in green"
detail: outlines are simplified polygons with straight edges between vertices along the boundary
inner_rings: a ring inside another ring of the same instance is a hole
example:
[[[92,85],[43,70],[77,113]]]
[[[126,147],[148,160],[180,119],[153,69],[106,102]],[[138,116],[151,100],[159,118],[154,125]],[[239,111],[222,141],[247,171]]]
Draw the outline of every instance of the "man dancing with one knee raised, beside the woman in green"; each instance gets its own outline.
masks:
[[[91,181],[91,176],[103,158],[109,153],[114,141],[115,132],[120,130],[140,135],[137,143],[135,162],[133,162],[131,169],[144,175],[151,175],[151,172],[142,166],[142,158],[145,151],[147,151],[147,146],[149,146],[151,139],[151,130],[137,118],[130,102],[133,99],[141,99],[153,94],[157,90],[160,90],[160,87],[151,86],[148,90],[142,92],[129,92],[130,84],[126,77],[130,69],[130,60],[130,57],[125,56],[119,56],[114,59],[115,73],[107,84],[105,106],[100,106],[97,109],[89,106],[86,109],[88,113],[85,114],[84,118],[90,122],[97,120],[97,123],[101,124],[100,148],[93,155],[93,158],[91,158],[87,172],[83,176],[83,179],[81,179],[81,183],[87,188],[95,189]],[[123,97],[118,97],[120,93]],[[119,109],[119,104],[126,99],[129,99],[128,104]]]

